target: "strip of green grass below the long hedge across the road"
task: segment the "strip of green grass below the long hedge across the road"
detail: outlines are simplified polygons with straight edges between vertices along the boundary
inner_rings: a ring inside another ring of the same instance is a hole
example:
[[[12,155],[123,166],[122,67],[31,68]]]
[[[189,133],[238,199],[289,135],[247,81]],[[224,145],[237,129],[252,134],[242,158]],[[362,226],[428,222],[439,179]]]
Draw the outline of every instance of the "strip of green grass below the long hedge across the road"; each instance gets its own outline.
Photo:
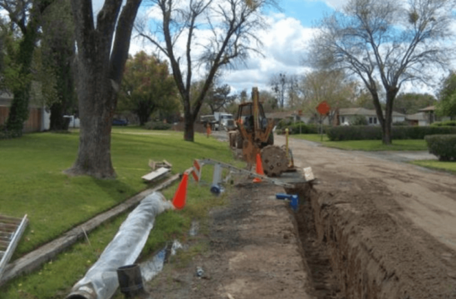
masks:
[[[393,144],[387,146],[382,144],[381,140],[329,141],[326,135],[323,135],[323,142],[321,142],[321,136],[318,134],[291,135],[291,137],[348,151],[427,151],[428,149],[424,140],[393,140]]]

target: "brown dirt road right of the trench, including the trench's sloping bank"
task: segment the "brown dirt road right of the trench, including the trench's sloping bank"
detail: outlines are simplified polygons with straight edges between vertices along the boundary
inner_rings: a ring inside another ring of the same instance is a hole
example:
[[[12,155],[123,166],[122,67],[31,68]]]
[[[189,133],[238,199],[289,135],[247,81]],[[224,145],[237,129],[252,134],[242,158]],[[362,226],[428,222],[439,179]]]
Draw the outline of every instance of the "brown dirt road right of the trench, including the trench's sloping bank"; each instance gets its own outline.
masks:
[[[319,178],[316,228],[347,298],[456,298],[455,175],[300,140],[290,148]]]

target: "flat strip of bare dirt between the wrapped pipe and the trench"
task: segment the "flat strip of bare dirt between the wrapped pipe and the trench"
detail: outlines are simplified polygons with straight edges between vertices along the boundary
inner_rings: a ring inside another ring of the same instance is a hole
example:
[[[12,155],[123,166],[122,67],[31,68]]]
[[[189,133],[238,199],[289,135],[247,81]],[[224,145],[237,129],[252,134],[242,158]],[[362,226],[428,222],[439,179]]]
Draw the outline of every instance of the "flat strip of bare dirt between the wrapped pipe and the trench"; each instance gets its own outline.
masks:
[[[284,189],[238,185],[228,206],[211,212],[210,232],[190,241],[207,250],[171,258],[146,286],[151,298],[314,298],[293,212],[277,192]]]

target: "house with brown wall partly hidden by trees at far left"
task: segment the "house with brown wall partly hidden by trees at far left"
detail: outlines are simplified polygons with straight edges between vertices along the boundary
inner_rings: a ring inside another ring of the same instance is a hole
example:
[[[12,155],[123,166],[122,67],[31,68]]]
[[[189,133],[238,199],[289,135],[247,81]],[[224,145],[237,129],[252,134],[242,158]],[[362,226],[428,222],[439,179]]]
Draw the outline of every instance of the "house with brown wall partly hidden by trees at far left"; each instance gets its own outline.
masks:
[[[0,126],[5,124],[10,114],[12,93],[0,91]],[[23,132],[36,132],[49,130],[50,113],[45,107],[36,104],[29,104],[29,118],[24,122]]]

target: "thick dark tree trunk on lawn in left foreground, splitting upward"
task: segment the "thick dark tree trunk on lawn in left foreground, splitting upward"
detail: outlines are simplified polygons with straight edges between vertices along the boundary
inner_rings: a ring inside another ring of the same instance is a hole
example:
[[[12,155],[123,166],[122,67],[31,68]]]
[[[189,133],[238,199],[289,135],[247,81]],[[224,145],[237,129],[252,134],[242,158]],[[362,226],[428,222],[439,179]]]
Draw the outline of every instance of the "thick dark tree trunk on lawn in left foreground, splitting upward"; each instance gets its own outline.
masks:
[[[78,45],[80,137],[78,157],[67,173],[115,176],[111,126],[140,4],[141,0],[127,0],[121,12],[122,0],[106,0],[95,26],[92,1],[71,0]]]

